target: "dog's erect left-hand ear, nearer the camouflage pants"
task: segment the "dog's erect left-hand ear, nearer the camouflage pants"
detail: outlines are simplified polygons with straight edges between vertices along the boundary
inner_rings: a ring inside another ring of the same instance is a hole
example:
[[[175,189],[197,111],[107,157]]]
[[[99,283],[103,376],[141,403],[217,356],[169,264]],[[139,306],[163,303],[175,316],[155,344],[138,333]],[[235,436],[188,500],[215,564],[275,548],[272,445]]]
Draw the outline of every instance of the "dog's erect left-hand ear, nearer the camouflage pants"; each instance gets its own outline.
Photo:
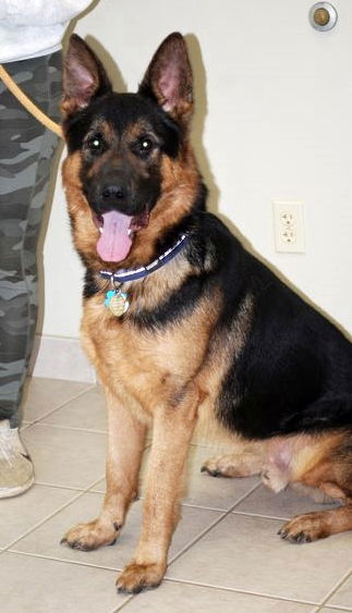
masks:
[[[109,91],[112,86],[100,60],[77,34],[73,34],[63,62],[63,115],[84,109],[93,98]]]

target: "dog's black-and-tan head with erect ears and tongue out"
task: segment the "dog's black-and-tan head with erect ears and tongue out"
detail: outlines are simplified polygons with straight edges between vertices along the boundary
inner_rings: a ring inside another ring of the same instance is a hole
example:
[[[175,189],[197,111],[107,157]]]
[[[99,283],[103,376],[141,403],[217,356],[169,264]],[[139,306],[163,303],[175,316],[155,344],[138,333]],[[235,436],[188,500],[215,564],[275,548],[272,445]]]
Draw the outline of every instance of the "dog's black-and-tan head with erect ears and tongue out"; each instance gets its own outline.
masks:
[[[113,93],[92,49],[71,37],[63,177],[86,263],[143,263],[160,233],[192,207],[199,183],[187,143],[192,107],[192,70],[180,34],[161,44],[136,94]]]

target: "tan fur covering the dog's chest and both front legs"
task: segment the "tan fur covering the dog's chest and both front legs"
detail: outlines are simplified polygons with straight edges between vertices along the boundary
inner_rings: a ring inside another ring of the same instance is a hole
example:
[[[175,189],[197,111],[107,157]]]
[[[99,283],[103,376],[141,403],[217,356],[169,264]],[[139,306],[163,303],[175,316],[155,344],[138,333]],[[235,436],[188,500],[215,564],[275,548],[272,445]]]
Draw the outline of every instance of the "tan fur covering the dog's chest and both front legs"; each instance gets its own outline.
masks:
[[[154,422],[139,544],[132,566],[118,584],[123,581],[125,589],[131,587],[131,568],[134,581],[141,573],[145,576],[150,551],[154,562],[150,562],[149,575],[154,576],[156,564],[159,580],[160,573],[165,572],[166,552],[178,518],[187,444],[202,397],[202,390],[193,379],[197,365],[202,367],[204,361],[208,330],[214,319],[215,308],[211,318],[210,306],[199,304],[181,330],[158,335],[138,332],[128,322],[122,324],[117,321],[104,310],[101,296],[90,299],[85,307],[83,340],[107,390],[111,415],[108,490],[101,515],[93,530],[95,534],[97,525],[100,528],[97,547],[101,544],[101,526],[106,527],[104,540],[108,541],[117,536],[111,530],[111,524],[122,526],[124,523],[125,512],[136,491],[144,433],[141,424],[151,418]],[[203,334],[199,334],[195,321],[202,321]],[[172,353],[169,353],[170,346]],[[195,366],[190,370],[191,364]],[[80,527],[81,541],[92,543],[92,528],[89,524],[85,534]],[[76,529],[65,537],[68,541],[76,538]]]

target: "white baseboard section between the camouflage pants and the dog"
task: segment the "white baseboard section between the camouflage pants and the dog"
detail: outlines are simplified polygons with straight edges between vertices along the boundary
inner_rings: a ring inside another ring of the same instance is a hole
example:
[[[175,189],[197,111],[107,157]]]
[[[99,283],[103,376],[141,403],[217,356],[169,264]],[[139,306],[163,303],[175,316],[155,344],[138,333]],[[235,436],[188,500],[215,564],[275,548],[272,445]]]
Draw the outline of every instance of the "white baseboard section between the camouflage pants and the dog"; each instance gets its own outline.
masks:
[[[95,383],[96,376],[80,339],[36,336],[29,371],[34,377]]]

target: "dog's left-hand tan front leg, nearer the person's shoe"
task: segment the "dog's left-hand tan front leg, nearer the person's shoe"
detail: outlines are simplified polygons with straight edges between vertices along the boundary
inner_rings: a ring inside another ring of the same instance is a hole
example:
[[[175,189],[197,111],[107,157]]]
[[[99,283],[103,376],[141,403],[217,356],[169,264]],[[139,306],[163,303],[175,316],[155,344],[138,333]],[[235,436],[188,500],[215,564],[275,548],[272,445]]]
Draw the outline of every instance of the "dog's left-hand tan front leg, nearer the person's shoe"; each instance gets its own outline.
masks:
[[[123,526],[129,505],[137,494],[141,459],[146,427],[123,402],[107,392],[108,456],[107,490],[100,515],[87,524],[78,524],[63,537],[73,549],[90,551],[112,544]]]

